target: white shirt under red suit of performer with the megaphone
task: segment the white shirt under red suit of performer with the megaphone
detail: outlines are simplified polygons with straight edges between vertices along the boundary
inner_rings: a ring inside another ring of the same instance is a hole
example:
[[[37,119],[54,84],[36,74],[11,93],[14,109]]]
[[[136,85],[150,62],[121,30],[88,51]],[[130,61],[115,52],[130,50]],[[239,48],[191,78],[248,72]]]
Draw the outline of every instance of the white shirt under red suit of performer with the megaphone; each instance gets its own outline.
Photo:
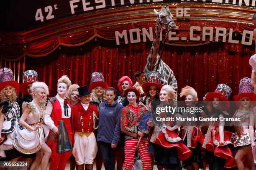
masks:
[[[65,116],[65,110],[64,110],[64,99],[62,99],[58,94],[55,96],[57,100],[59,100],[59,103],[61,105],[61,117],[62,118],[69,118],[71,116],[71,107],[68,104],[68,116]],[[45,110],[45,115],[44,115],[44,122],[49,128],[52,130],[54,127],[54,121],[51,119],[51,112],[52,112],[52,104],[51,101],[49,100],[47,102],[46,110]]]

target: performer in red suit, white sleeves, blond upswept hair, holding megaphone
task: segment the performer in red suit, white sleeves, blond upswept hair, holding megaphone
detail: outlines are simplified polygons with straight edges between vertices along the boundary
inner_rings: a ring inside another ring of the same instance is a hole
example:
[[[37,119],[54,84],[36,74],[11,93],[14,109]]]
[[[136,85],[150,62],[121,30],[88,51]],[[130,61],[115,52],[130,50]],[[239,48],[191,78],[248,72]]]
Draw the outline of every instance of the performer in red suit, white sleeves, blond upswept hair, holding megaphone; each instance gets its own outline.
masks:
[[[66,162],[72,154],[72,151],[70,149],[66,152],[64,151],[63,153],[57,153],[59,120],[64,121],[69,140],[73,145],[73,113],[71,109],[71,104],[65,98],[70,84],[71,82],[67,75],[62,76],[58,80],[58,94],[55,97],[50,97],[46,106],[44,122],[51,129],[46,141],[46,144],[51,148],[50,170],[64,170]]]

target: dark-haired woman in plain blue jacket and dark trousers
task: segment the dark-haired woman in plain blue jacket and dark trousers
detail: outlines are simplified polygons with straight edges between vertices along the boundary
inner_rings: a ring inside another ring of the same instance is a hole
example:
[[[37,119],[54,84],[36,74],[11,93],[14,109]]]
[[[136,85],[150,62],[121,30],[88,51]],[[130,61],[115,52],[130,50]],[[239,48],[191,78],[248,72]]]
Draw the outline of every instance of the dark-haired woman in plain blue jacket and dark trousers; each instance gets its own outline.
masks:
[[[97,141],[100,142],[105,170],[115,170],[115,148],[120,139],[119,117],[123,108],[114,101],[115,89],[106,89],[106,100],[99,105],[99,129]]]

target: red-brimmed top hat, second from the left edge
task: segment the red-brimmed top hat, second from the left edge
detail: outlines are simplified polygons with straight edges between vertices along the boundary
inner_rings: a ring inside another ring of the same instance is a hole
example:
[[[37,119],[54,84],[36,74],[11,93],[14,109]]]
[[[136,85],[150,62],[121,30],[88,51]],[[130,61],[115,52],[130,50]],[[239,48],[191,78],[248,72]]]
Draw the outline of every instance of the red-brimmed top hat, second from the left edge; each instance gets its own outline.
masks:
[[[35,70],[27,70],[23,73],[23,83],[20,83],[20,92],[28,94],[27,85],[37,81],[37,72]]]

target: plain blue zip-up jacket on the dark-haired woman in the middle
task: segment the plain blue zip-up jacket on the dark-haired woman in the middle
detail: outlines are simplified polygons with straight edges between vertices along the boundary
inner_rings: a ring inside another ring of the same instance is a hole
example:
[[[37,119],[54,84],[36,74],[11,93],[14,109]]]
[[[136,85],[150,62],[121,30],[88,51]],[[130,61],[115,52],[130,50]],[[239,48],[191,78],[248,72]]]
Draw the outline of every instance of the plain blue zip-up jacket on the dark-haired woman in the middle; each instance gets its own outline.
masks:
[[[97,141],[118,144],[120,139],[119,117],[123,108],[117,101],[109,105],[107,100],[99,105],[99,128]]]

